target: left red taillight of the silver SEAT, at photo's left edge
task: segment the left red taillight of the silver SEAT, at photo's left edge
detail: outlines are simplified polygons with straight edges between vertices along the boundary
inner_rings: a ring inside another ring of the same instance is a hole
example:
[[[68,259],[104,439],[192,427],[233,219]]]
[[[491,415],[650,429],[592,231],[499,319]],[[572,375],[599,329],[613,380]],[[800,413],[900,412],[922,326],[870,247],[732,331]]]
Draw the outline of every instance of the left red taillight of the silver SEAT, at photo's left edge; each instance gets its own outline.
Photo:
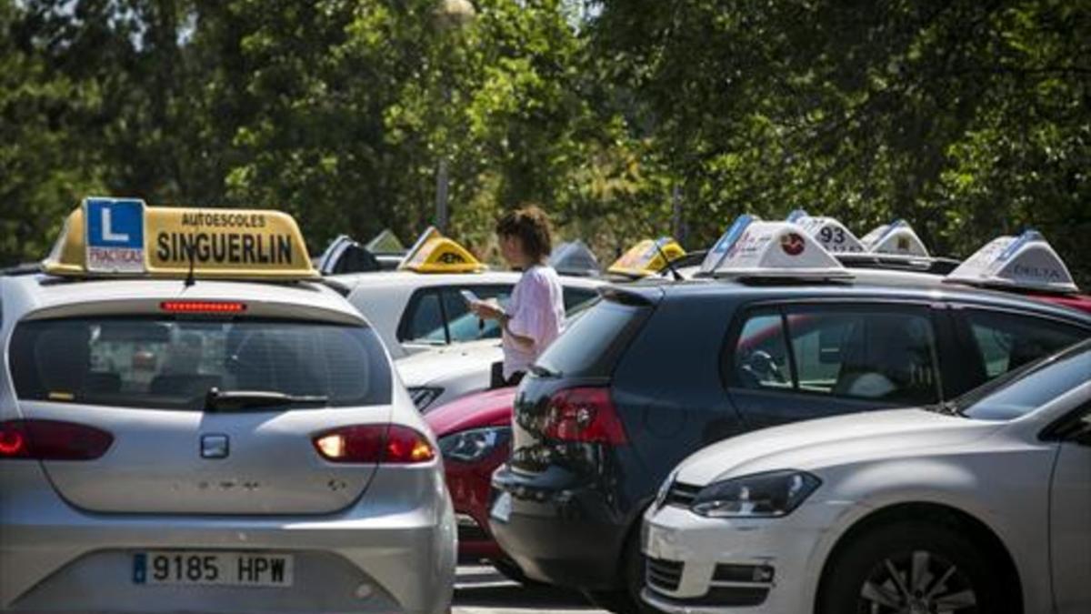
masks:
[[[53,420],[0,422],[0,459],[95,460],[113,444],[109,433]]]

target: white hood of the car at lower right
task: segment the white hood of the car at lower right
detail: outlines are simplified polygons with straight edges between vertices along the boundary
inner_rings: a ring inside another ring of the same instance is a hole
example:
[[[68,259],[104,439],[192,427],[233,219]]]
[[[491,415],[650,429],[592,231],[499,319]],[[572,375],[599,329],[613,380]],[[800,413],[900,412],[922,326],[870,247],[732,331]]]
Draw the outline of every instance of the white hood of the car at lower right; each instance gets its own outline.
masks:
[[[820,471],[848,463],[915,456],[980,440],[1003,424],[916,409],[807,421],[704,448],[682,461],[675,479],[704,486],[764,471]]]

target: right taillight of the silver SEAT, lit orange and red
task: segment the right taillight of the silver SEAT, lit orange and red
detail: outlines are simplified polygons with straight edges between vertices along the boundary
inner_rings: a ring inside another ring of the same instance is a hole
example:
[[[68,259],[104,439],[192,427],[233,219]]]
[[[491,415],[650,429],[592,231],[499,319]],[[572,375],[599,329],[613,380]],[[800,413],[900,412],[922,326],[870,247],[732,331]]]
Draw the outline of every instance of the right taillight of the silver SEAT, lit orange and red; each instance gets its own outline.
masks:
[[[315,435],[312,442],[329,462],[410,464],[435,458],[428,437],[396,424],[343,426]]]

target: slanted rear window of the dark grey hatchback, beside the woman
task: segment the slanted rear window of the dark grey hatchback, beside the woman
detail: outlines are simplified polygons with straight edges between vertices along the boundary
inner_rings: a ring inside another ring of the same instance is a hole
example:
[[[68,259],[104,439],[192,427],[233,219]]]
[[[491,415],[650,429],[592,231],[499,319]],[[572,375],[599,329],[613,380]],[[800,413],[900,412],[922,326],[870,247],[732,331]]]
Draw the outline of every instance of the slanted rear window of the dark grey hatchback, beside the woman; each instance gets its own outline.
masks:
[[[621,351],[651,312],[649,306],[600,300],[568,322],[537,365],[564,376],[609,376]]]

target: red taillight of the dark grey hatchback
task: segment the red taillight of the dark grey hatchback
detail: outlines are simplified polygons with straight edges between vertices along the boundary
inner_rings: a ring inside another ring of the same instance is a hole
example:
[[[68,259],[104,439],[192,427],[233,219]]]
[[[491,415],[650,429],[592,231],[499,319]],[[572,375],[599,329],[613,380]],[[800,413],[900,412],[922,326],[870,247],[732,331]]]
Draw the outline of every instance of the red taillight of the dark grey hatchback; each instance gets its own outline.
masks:
[[[553,394],[543,434],[550,439],[579,444],[628,442],[608,388],[570,388]]]

